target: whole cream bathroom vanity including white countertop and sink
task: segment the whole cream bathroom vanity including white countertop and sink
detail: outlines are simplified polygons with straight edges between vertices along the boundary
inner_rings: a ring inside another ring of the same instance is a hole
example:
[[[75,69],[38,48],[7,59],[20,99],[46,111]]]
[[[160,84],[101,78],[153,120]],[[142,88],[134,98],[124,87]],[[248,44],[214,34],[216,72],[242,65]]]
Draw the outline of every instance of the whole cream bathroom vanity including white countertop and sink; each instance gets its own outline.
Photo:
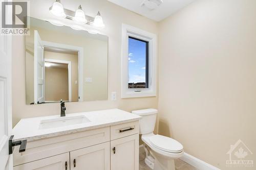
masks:
[[[14,140],[15,170],[138,170],[140,116],[119,109],[21,119]]]

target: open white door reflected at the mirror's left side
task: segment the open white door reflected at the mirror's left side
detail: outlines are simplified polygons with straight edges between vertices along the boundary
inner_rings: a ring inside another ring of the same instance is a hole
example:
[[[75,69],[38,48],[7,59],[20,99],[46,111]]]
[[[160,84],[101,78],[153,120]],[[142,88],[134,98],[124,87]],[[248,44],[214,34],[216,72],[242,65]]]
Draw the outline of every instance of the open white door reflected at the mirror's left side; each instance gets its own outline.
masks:
[[[45,102],[44,45],[38,32],[34,32],[34,103]]]

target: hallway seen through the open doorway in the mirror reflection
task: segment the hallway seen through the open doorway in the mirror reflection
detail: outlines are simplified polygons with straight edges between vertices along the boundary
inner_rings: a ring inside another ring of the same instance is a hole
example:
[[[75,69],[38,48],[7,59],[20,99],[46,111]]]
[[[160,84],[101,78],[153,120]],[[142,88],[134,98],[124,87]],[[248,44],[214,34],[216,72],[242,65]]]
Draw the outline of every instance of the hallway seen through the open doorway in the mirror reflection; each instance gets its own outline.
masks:
[[[78,102],[78,52],[45,47],[46,103]]]

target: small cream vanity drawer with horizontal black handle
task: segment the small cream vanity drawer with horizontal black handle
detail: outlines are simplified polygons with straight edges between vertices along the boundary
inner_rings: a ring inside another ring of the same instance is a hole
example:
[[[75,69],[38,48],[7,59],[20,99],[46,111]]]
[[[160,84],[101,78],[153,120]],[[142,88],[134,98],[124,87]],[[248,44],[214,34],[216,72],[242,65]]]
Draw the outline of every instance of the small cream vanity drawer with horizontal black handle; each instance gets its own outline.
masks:
[[[139,133],[139,121],[111,126],[110,131],[111,140]]]

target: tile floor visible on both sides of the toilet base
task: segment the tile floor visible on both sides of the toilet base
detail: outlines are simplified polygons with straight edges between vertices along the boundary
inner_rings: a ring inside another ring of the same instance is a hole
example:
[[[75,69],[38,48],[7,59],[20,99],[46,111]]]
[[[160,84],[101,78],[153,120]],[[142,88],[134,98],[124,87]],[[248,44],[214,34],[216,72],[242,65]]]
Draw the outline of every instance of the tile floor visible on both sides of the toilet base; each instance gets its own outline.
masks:
[[[144,162],[145,153],[141,153],[139,155],[139,158],[140,158],[139,170],[152,170]],[[175,167],[176,167],[175,168],[176,170],[197,170],[195,167],[187,164],[186,162],[184,162],[180,159],[175,160]]]

